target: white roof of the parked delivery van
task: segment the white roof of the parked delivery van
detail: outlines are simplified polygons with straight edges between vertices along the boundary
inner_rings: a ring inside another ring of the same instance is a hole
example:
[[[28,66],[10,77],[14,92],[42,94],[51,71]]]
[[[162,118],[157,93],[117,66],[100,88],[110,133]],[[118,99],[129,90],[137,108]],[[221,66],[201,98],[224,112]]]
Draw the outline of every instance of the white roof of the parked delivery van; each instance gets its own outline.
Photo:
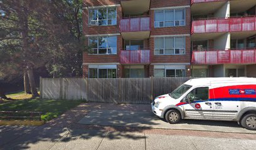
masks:
[[[208,85],[208,84],[215,84],[215,83],[255,83],[256,84],[256,78],[246,78],[246,77],[240,77],[240,78],[196,78],[196,79],[190,79],[189,81],[186,81],[185,84],[189,84],[191,86],[200,86],[200,85]]]

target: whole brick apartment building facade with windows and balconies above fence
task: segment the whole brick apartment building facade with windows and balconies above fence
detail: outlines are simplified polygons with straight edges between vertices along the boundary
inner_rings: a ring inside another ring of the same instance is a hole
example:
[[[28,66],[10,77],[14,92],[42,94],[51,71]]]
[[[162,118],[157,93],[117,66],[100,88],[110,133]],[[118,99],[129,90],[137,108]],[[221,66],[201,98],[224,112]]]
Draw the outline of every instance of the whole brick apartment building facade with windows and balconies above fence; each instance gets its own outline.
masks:
[[[83,77],[256,74],[256,1],[249,1],[84,0]]]

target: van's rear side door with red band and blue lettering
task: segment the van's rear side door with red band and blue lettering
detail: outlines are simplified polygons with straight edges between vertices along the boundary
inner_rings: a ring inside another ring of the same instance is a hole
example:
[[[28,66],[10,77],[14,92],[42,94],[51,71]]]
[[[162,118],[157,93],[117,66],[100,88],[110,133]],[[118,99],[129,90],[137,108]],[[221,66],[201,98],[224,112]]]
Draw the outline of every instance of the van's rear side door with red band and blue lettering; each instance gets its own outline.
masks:
[[[232,121],[235,119],[237,113],[240,112],[242,101],[238,101],[240,93],[243,93],[243,89],[238,89],[237,87],[233,88],[217,88],[213,89],[214,94],[217,98],[213,103],[213,118],[218,120],[227,120]],[[221,93],[221,97],[218,94]]]

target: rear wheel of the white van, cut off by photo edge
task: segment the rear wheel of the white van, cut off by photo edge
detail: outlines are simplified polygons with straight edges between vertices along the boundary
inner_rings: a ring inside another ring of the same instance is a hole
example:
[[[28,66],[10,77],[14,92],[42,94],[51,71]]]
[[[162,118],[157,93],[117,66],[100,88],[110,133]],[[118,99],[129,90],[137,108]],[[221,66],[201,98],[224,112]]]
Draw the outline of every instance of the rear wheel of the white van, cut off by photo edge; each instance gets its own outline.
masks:
[[[241,120],[241,125],[250,130],[256,130],[256,114],[246,114]]]

